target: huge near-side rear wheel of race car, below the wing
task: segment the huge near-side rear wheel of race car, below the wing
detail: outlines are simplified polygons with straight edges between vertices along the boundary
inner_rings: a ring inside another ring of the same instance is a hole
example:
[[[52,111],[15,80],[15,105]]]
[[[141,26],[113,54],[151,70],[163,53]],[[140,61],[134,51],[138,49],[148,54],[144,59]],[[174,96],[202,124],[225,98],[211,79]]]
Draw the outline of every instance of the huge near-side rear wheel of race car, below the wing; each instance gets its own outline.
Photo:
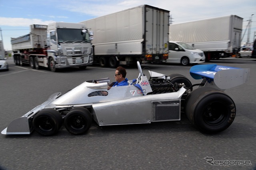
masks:
[[[186,98],[185,113],[188,120],[204,133],[218,133],[234,121],[236,106],[224,92],[211,87],[202,87]]]

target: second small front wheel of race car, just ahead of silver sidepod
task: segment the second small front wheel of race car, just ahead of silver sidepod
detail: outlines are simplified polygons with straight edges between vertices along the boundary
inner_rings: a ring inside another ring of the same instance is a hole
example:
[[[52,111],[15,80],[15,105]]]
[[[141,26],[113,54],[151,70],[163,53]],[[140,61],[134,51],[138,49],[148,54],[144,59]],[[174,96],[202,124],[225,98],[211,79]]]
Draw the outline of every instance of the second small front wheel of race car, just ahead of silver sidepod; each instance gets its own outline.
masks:
[[[84,107],[75,107],[64,118],[64,125],[70,133],[82,135],[88,131],[92,124],[92,115]]]

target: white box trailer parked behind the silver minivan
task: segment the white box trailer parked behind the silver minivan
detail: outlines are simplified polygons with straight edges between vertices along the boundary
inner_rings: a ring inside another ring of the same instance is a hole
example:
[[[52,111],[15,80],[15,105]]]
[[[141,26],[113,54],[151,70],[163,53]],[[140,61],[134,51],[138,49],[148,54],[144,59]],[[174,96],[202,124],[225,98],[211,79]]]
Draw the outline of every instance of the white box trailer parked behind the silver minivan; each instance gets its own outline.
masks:
[[[206,61],[232,57],[240,51],[242,24],[235,15],[175,23],[169,26],[169,40],[204,51]]]

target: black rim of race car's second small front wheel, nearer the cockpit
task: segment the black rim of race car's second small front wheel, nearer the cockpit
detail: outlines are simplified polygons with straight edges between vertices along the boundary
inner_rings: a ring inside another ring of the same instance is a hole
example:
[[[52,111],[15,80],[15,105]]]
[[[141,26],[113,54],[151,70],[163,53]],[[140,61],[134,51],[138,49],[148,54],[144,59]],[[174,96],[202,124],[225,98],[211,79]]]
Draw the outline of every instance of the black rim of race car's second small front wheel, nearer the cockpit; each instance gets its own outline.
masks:
[[[81,115],[72,115],[68,119],[68,125],[73,131],[83,131],[86,127],[86,120]]]

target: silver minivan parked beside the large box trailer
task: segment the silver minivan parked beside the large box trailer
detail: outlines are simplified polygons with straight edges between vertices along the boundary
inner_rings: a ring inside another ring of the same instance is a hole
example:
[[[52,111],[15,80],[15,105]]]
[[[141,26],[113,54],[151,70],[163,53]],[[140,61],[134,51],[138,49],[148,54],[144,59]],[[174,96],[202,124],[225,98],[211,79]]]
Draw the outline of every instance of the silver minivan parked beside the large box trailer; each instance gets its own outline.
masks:
[[[197,64],[205,62],[204,52],[178,41],[169,41],[169,53],[166,63]]]

